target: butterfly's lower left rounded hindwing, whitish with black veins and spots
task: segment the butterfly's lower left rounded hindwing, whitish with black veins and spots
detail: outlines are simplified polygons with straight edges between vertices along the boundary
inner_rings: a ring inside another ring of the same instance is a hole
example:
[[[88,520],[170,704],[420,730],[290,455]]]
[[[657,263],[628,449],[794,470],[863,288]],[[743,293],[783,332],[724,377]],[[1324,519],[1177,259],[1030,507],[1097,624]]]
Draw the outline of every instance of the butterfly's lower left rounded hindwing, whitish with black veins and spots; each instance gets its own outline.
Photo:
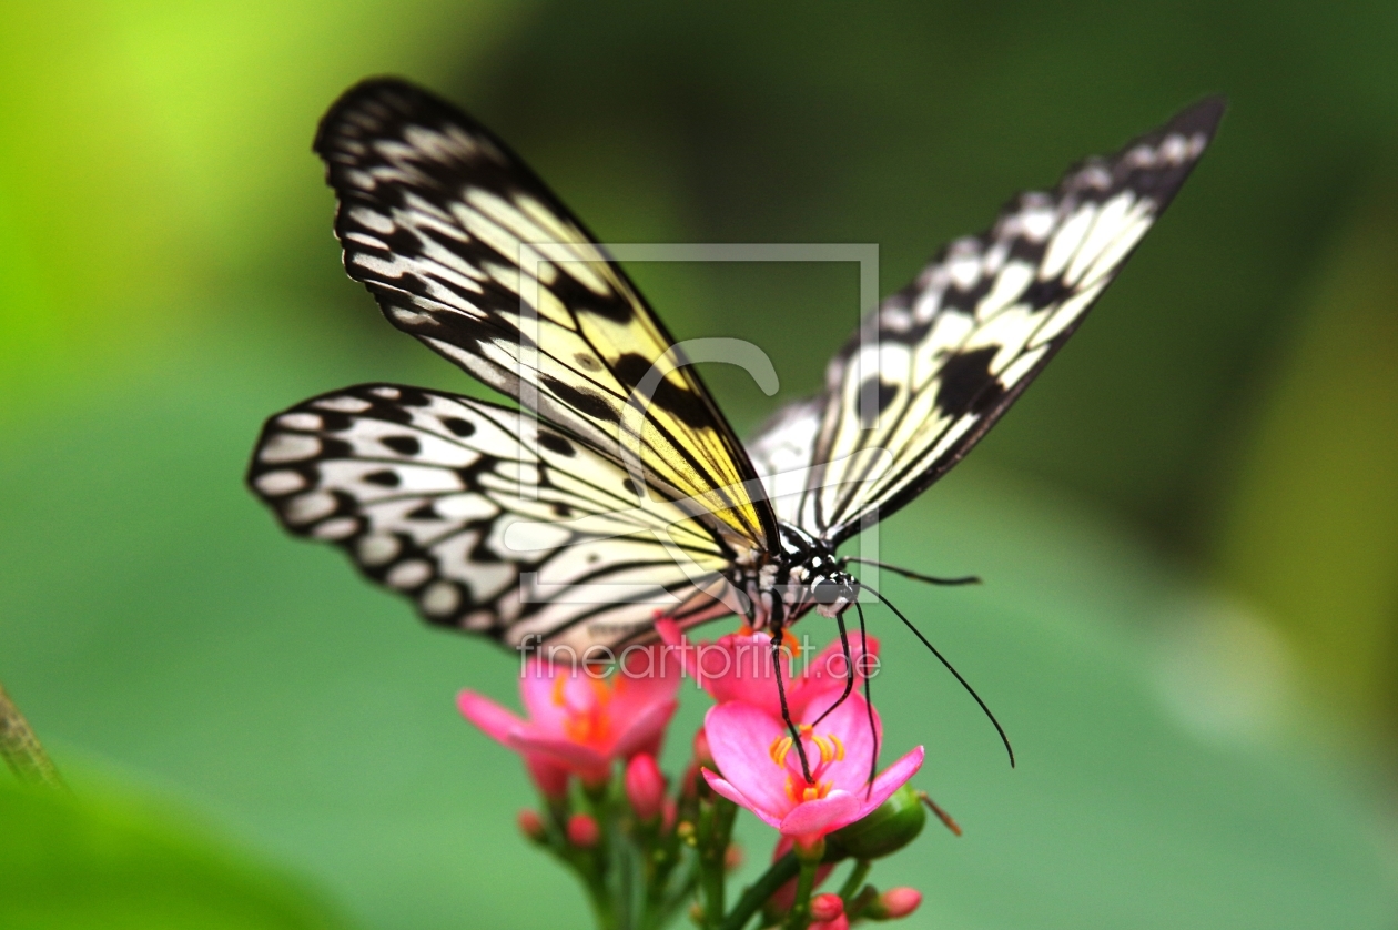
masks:
[[[398,385],[296,404],[263,428],[253,491],[298,536],[341,547],[433,624],[512,648],[615,646],[657,611],[688,625],[733,559],[625,470],[517,410]]]

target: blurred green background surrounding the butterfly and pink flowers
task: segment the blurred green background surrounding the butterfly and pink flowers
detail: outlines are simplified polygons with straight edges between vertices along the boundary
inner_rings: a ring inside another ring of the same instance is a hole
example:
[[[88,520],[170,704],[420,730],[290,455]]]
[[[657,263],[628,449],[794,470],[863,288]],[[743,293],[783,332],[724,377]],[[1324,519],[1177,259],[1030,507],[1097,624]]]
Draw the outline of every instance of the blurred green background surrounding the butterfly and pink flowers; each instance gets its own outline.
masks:
[[[1012,192],[1232,109],[1093,319],[884,552],[994,731],[874,617],[889,745],[967,828],[909,927],[1398,923],[1398,7],[8,3],[0,680],[73,800],[0,778],[10,927],[586,926],[456,716],[514,661],[429,632],[242,489],[259,424],[473,390],[350,282],[309,152],[396,73],[605,241],[874,242],[881,292]],[[808,393],[854,266],[630,269]],[[751,429],[773,401],[707,372]],[[825,635],[819,621],[812,635]],[[678,761],[703,701],[686,698]],[[752,824],[751,874],[770,836]]]

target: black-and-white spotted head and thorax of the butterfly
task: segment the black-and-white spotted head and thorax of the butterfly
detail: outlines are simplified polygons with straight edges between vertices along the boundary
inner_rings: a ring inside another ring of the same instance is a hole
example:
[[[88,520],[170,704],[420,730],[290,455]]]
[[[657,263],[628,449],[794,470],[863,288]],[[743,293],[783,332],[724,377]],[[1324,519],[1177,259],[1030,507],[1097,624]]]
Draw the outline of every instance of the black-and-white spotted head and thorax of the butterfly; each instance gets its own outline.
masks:
[[[857,596],[857,582],[835,551],[805,530],[777,522],[780,547],[756,569],[731,580],[751,599],[748,622],[762,629],[790,624],[812,607],[823,617],[844,611]]]

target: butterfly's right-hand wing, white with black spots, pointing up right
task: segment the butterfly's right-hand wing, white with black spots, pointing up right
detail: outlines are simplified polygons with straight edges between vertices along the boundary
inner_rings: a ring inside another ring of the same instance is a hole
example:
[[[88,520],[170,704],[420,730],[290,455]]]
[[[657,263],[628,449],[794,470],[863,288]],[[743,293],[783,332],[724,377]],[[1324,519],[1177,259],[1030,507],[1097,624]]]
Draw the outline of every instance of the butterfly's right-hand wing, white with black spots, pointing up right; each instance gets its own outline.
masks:
[[[1051,194],[1021,194],[988,232],[953,242],[870,313],[832,359],[825,392],[752,443],[769,491],[784,495],[783,519],[839,543],[970,452],[1072,336],[1222,113],[1222,99],[1206,99],[1082,162]],[[800,492],[773,477],[802,466]]]

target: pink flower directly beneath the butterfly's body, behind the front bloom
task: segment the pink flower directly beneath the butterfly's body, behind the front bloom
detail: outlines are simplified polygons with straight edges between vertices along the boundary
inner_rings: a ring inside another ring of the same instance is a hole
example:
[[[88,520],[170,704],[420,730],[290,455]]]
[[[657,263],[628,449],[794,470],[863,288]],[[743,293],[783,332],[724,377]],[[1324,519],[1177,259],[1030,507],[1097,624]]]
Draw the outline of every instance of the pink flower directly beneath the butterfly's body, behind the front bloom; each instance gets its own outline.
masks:
[[[656,632],[679,657],[685,674],[695,678],[714,701],[742,701],[781,715],[776,674],[772,668],[772,635],[765,632],[737,632],[720,636],[717,642],[691,643],[672,620],[656,624]],[[787,634],[783,652],[795,648],[797,641]],[[878,667],[878,641],[868,638],[868,654],[860,635],[850,636],[850,659],[856,678]],[[793,667],[797,670],[793,674]],[[781,684],[793,719],[804,715],[807,705],[825,695],[830,702],[839,696],[849,675],[844,650],[839,639],[822,649],[814,659],[794,656],[783,661]],[[856,681],[856,685],[858,681]],[[833,692],[833,694],[832,694]],[[825,705],[825,706],[829,706]],[[821,710],[825,710],[825,706]]]

